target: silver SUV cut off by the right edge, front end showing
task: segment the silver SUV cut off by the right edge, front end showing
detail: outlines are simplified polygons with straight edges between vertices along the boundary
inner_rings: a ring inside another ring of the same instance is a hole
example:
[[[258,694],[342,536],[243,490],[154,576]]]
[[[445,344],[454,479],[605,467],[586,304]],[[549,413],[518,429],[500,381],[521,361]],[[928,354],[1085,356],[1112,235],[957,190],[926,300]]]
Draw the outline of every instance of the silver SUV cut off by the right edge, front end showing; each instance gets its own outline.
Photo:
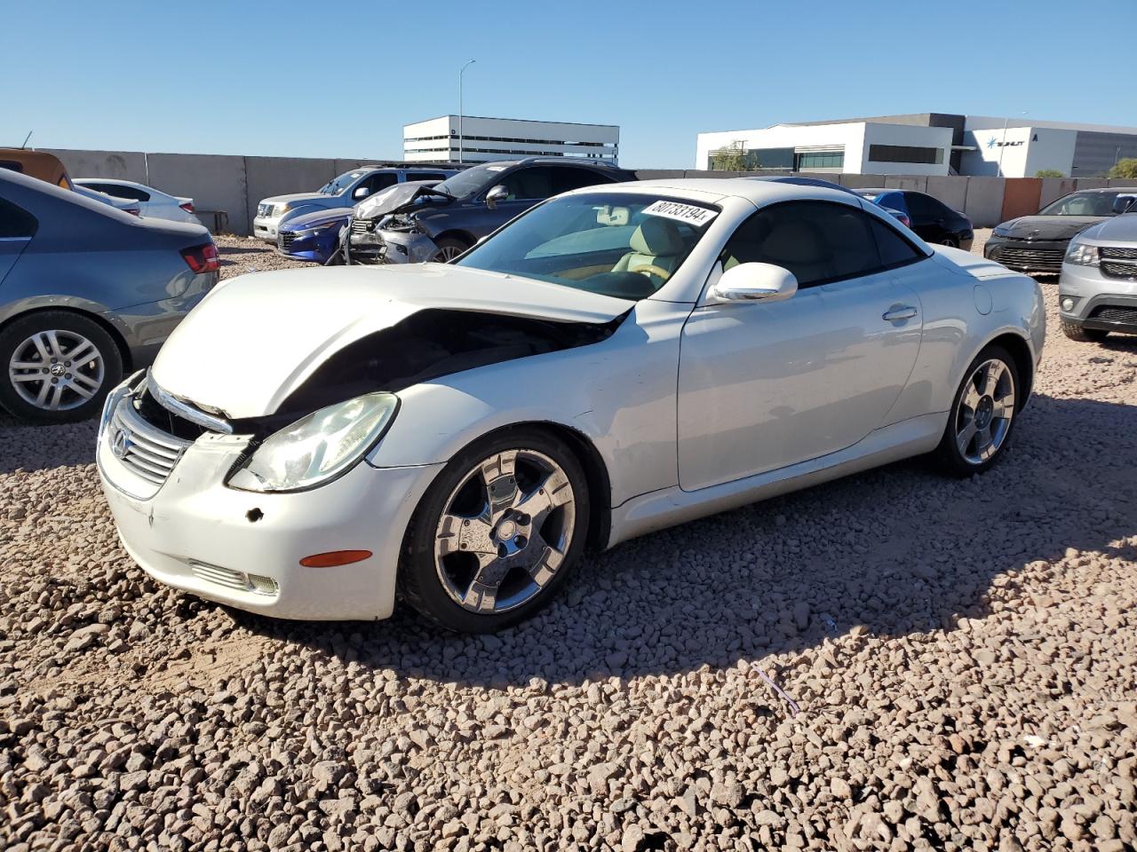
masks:
[[[1137,194],[1119,194],[1112,212],[1074,236],[1062,262],[1059,310],[1071,340],[1137,334]]]

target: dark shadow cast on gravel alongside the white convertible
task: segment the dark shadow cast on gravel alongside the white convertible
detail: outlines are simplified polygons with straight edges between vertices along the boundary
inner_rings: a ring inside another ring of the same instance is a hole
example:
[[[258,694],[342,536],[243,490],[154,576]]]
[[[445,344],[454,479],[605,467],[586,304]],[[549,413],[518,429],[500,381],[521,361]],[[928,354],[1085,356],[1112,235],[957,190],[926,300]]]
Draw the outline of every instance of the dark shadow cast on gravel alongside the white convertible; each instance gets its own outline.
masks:
[[[915,459],[628,542],[588,559],[551,607],[497,636],[447,634],[405,607],[376,624],[233,617],[345,662],[470,685],[740,661],[777,677],[761,662],[770,654],[792,662],[828,638],[984,618],[993,600],[1023,594],[1016,573],[1069,548],[1137,559],[1124,543],[1137,535],[1134,459],[1137,407],[1039,394],[982,477],[945,478]]]

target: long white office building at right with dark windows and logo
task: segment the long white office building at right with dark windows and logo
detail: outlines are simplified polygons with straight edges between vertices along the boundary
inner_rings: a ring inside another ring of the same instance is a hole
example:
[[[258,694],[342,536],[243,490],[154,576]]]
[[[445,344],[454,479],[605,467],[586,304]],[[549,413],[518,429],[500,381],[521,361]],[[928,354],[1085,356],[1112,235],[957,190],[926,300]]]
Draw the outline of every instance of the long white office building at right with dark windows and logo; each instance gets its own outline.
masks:
[[[1137,127],[919,112],[700,133],[695,165],[1003,177],[1053,169],[1064,177],[1095,177],[1127,157],[1137,157]]]

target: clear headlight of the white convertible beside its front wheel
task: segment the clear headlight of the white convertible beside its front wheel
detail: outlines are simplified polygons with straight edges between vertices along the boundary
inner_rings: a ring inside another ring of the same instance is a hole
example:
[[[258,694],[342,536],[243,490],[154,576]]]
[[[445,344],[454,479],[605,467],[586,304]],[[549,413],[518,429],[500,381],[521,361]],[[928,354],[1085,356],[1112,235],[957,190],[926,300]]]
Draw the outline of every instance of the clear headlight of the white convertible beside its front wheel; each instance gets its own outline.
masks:
[[[302,491],[346,473],[383,436],[399,398],[367,393],[269,435],[229,478],[242,491]]]

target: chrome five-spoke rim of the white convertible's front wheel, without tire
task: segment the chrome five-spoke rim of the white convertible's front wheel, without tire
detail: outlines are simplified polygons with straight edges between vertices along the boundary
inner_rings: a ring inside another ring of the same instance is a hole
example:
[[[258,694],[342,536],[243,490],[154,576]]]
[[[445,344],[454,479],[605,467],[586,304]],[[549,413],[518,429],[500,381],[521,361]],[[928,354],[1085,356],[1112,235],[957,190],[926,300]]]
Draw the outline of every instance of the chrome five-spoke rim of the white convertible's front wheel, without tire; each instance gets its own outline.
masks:
[[[540,594],[572,544],[576,501],[561,466],[536,450],[503,450],[447,498],[434,567],[450,599],[481,615]]]

